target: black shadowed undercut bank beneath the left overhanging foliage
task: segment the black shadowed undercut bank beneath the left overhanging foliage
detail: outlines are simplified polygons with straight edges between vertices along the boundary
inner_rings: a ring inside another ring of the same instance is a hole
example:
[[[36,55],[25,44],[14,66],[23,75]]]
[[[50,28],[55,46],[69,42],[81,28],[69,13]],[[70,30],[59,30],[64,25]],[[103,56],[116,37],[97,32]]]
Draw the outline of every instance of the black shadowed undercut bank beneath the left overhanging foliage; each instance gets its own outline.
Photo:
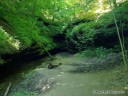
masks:
[[[64,49],[63,47],[59,47],[49,50],[49,53],[54,55],[58,52],[65,52],[65,51],[67,51],[67,49]],[[42,58],[45,58],[47,56],[48,54],[46,52],[44,54],[40,54],[40,51],[38,49],[32,49],[32,48],[31,49],[28,48],[16,54],[3,55],[3,58],[4,60],[7,61],[7,63],[0,66],[0,79],[3,80],[9,75],[19,72],[19,70],[22,70],[22,67],[26,66],[26,64],[28,66],[31,66],[31,62],[37,61],[37,66],[38,66],[38,61],[40,61]]]

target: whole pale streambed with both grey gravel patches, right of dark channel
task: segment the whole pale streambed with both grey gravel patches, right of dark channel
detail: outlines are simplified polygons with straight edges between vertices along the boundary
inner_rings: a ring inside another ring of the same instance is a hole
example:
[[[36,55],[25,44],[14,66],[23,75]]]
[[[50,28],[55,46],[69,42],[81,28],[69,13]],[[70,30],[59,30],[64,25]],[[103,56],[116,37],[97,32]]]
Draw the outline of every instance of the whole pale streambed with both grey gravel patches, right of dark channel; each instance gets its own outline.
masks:
[[[28,78],[10,89],[9,96],[113,96],[115,94],[98,93],[112,90],[126,96],[123,82],[112,81],[113,70],[108,68],[120,64],[119,54],[109,54],[102,59],[80,59],[62,52],[55,57],[56,60],[44,63],[62,65],[53,69],[36,68]]]

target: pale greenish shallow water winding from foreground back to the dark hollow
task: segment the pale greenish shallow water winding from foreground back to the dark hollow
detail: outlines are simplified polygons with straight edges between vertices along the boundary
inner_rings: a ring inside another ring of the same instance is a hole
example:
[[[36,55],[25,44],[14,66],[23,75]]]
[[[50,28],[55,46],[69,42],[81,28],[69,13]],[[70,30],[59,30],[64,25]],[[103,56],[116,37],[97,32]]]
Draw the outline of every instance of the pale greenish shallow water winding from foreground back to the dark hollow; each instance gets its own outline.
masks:
[[[55,57],[57,58],[56,60],[42,60],[40,61],[40,63],[62,63],[61,66],[50,70],[47,68],[33,68],[33,70],[40,70],[40,72],[42,74],[45,74],[46,77],[56,80],[55,86],[50,89],[50,91],[46,92],[45,94],[40,94],[38,96],[127,96],[124,93],[112,94],[115,91],[124,91],[122,87],[123,82],[114,81],[112,79],[113,70],[88,73],[71,73],[69,71],[74,69],[74,66],[72,65],[74,62],[80,62],[81,64],[83,62],[80,61],[80,59],[76,58],[74,55],[68,53],[59,53],[56,54]],[[41,64],[39,67],[43,66]],[[19,78],[20,76],[17,75],[14,77]],[[11,78],[12,83],[15,82],[14,77],[12,76]],[[17,84],[20,81],[22,81],[22,79],[19,78],[19,80],[17,80]],[[14,85],[16,84],[14,83]],[[103,93],[103,91],[106,93]]]

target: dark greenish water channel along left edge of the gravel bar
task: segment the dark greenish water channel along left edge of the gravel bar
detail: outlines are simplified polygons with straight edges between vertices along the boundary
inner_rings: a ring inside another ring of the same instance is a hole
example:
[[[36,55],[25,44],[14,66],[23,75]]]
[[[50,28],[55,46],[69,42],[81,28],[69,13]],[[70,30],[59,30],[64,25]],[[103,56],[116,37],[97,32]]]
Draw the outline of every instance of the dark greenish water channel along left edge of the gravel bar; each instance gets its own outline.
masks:
[[[31,74],[35,69],[38,67],[44,67],[44,62],[48,59],[49,57],[45,57],[40,60],[27,62],[17,70],[12,70],[13,72],[8,73],[8,76],[5,78],[0,78],[0,93],[4,94],[9,82],[11,82],[11,87],[14,88],[17,84],[26,79],[27,75]]]

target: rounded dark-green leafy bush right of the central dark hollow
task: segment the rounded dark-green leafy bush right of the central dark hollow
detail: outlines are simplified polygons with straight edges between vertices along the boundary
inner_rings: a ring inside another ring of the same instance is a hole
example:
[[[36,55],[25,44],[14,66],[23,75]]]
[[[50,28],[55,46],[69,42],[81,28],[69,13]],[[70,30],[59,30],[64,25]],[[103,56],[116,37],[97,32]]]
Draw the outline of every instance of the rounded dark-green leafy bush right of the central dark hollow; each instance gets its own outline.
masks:
[[[98,27],[99,25],[96,21],[79,23],[78,25],[75,25],[73,28],[71,27],[72,29],[70,29],[69,27],[69,29],[66,32],[66,37],[67,39],[69,39],[68,42],[77,46],[76,49],[78,50],[84,50],[87,47],[94,46],[93,43],[95,36],[97,34],[96,29]]]

